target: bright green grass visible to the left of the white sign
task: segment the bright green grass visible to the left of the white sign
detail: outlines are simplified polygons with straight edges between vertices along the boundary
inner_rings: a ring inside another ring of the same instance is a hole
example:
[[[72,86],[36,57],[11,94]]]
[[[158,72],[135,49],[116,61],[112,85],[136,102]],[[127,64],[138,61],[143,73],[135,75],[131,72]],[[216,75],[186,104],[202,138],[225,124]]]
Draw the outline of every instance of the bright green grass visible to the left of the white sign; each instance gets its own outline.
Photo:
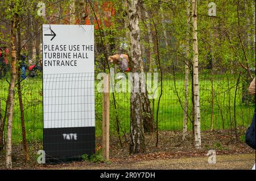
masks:
[[[27,140],[28,142],[43,140],[42,81],[40,79],[28,78],[21,82],[21,86]],[[5,100],[8,94],[8,83],[0,80],[0,87],[1,111],[3,114],[6,105]],[[15,90],[14,100],[13,142],[16,143],[22,140],[22,126],[17,90]]]

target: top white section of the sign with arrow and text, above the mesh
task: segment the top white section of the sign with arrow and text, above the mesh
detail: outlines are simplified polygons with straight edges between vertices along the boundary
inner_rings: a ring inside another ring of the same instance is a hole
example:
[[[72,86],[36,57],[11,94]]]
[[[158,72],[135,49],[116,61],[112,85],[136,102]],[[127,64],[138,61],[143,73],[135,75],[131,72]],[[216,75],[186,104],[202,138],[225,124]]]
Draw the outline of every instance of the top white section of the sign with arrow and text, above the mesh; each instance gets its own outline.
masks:
[[[43,25],[44,74],[94,73],[94,32],[90,25]]]

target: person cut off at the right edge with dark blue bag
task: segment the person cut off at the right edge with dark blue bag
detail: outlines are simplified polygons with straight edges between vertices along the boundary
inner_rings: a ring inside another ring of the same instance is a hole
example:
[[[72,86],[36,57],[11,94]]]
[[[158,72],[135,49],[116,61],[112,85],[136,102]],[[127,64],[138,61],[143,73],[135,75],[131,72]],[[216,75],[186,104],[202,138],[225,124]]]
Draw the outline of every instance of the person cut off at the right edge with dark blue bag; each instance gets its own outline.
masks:
[[[255,96],[255,77],[253,81],[250,83],[249,94]],[[253,120],[251,122],[251,125],[246,131],[246,143],[247,145],[251,146],[251,148],[254,147],[255,149],[255,110],[254,110]],[[255,163],[252,170],[255,170]]]

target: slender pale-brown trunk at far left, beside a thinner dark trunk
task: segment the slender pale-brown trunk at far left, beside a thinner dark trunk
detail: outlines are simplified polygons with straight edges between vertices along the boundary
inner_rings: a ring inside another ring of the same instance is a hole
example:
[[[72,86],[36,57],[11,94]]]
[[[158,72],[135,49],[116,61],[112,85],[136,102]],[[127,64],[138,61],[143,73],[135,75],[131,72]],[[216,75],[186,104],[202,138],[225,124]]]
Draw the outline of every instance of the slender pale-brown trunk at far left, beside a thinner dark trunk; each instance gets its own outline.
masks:
[[[11,8],[12,9],[12,8]],[[13,166],[11,160],[12,146],[11,136],[13,130],[13,111],[14,111],[14,88],[16,81],[16,28],[18,23],[18,15],[14,13],[11,20],[11,82],[9,86],[9,101],[7,112],[7,137],[6,137],[6,168],[11,169]]]

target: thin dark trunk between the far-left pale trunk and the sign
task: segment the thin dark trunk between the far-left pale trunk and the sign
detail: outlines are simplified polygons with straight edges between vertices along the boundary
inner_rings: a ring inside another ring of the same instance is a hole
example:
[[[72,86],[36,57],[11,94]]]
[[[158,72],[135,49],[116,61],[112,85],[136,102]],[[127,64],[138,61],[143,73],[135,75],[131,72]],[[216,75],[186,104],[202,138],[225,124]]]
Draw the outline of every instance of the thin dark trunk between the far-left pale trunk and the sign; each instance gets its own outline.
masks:
[[[21,50],[20,36],[21,36],[20,35],[20,24],[18,24],[18,60],[21,60],[21,56],[20,56],[20,50]],[[19,66],[19,69],[18,69],[17,81],[18,81],[20,120],[21,120],[21,123],[22,123],[22,142],[23,142],[23,148],[24,148],[24,154],[25,154],[25,161],[27,163],[30,160],[30,157],[28,155],[28,149],[27,149],[26,129],[25,129],[25,121],[24,121],[24,107],[23,107],[22,92],[21,92],[21,86],[20,86],[20,66]]]

